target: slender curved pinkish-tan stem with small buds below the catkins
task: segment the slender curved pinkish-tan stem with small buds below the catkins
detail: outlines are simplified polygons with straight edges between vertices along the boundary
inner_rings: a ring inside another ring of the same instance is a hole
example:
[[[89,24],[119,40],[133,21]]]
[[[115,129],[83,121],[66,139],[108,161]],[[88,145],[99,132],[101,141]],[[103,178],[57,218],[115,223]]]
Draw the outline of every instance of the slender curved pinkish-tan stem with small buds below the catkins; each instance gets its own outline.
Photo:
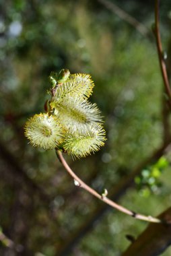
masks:
[[[58,156],[60,162],[63,164],[65,170],[67,170],[69,175],[76,182],[75,185],[77,184],[79,187],[82,187],[83,189],[88,191],[90,194],[94,195],[94,197],[97,197],[101,201],[104,201],[104,203],[107,203],[108,205],[112,206],[114,209],[116,209],[120,212],[123,212],[124,214],[127,214],[133,218],[136,218],[139,220],[145,220],[146,222],[162,223],[162,220],[160,220],[158,218],[153,218],[151,216],[144,216],[142,214],[137,214],[131,210],[128,210],[127,208],[123,207],[122,205],[115,203],[114,201],[112,201],[108,197],[106,197],[105,195],[103,195],[103,194],[100,195],[97,191],[92,189],[92,187],[89,187],[86,183],[84,183],[81,179],[79,179],[79,177],[77,177],[77,175],[75,174],[75,172],[73,172],[73,170],[71,170],[71,168],[69,167],[69,165],[63,158],[63,154],[59,150],[57,150],[56,152],[57,152],[57,156]]]

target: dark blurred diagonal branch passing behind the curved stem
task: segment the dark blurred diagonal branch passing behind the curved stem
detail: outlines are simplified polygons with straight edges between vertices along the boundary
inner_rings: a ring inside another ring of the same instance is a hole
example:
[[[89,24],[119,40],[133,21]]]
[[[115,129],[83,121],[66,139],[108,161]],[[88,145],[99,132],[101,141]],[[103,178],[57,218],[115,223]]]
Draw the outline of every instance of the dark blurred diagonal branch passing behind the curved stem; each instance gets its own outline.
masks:
[[[145,168],[148,164],[152,164],[153,162],[156,162],[161,156],[163,156],[165,150],[168,148],[168,146],[171,143],[171,139],[169,138],[166,144],[161,146],[158,150],[153,152],[151,156],[149,156],[147,159],[143,160],[141,164],[133,170],[133,172],[129,173],[129,176],[125,179],[123,179],[112,191],[110,191],[109,195],[112,198],[112,200],[116,201],[118,200],[124,193],[129,189],[130,187],[133,187],[135,185],[134,179],[137,175],[141,173],[141,170]],[[72,235],[65,239],[65,245],[61,245],[58,251],[57,256],[65,256],[68,255],[72,251],[72,249],[79,243],[81,238],[85,236],[90,230],[93,228],[94,223],[97,222],[108,210],[111,210],[112,208],[109,207],[107,204],[100,204],[98,208],[91,214],[91,216],[88,216],[86,223],[84,223],[82,226],[79,226],[77,230],[72,232]]]

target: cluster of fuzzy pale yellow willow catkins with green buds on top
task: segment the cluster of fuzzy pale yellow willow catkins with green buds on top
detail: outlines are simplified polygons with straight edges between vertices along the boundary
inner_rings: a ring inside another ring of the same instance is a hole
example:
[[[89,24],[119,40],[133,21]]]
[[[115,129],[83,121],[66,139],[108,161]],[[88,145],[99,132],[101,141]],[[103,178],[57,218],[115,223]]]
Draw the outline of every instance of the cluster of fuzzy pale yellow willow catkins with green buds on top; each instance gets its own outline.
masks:
[[[96,104],[88,101],[94,82],[88,74],[68,69],[50,73],[50,100],[46,113],[26,122],[25,135],[34,147],[56,148],[73,158],[85,157],[104,145],[105,131]]]

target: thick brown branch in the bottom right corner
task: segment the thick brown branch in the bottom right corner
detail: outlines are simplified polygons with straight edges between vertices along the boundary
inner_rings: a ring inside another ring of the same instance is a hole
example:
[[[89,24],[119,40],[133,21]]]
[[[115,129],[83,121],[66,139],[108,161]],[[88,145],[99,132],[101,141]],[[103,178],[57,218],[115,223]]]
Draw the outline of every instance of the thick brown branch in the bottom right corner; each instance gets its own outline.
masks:
[[[171,207],[158,218],[171,223]],[[171,225],[149,224],[122,256],[156,256],[171,244]]]

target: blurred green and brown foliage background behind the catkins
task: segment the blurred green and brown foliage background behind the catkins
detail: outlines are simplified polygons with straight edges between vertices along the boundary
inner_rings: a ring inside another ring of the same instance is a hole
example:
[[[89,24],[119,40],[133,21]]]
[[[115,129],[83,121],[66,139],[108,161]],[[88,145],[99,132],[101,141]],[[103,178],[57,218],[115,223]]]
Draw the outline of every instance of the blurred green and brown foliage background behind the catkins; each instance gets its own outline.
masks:
[[[94,156],[75,162],[65,156],[84,181],[110,194],[160,148],[164,96],[150,31],[154,3],[111,1],[149,28],[149,36],[100,1],[0,1],[0,225],[24,246],[15,254],[2,243],[0,255],[117,256],[130,244],[126,234],[136,237],[147,226],[108,207],[100,213],[103,203],[74,186],[55,152],[34,149],[24,137],[26,119],[44,111],[50,71],[68,68],[92,75],[91,100],[102,110],[108,137]],[[168,53],[170,19],[167,0],[161,31]],[[142,214],[157,216],[169,207],[169,150],[143,166],[122,194],[119,202]]]

